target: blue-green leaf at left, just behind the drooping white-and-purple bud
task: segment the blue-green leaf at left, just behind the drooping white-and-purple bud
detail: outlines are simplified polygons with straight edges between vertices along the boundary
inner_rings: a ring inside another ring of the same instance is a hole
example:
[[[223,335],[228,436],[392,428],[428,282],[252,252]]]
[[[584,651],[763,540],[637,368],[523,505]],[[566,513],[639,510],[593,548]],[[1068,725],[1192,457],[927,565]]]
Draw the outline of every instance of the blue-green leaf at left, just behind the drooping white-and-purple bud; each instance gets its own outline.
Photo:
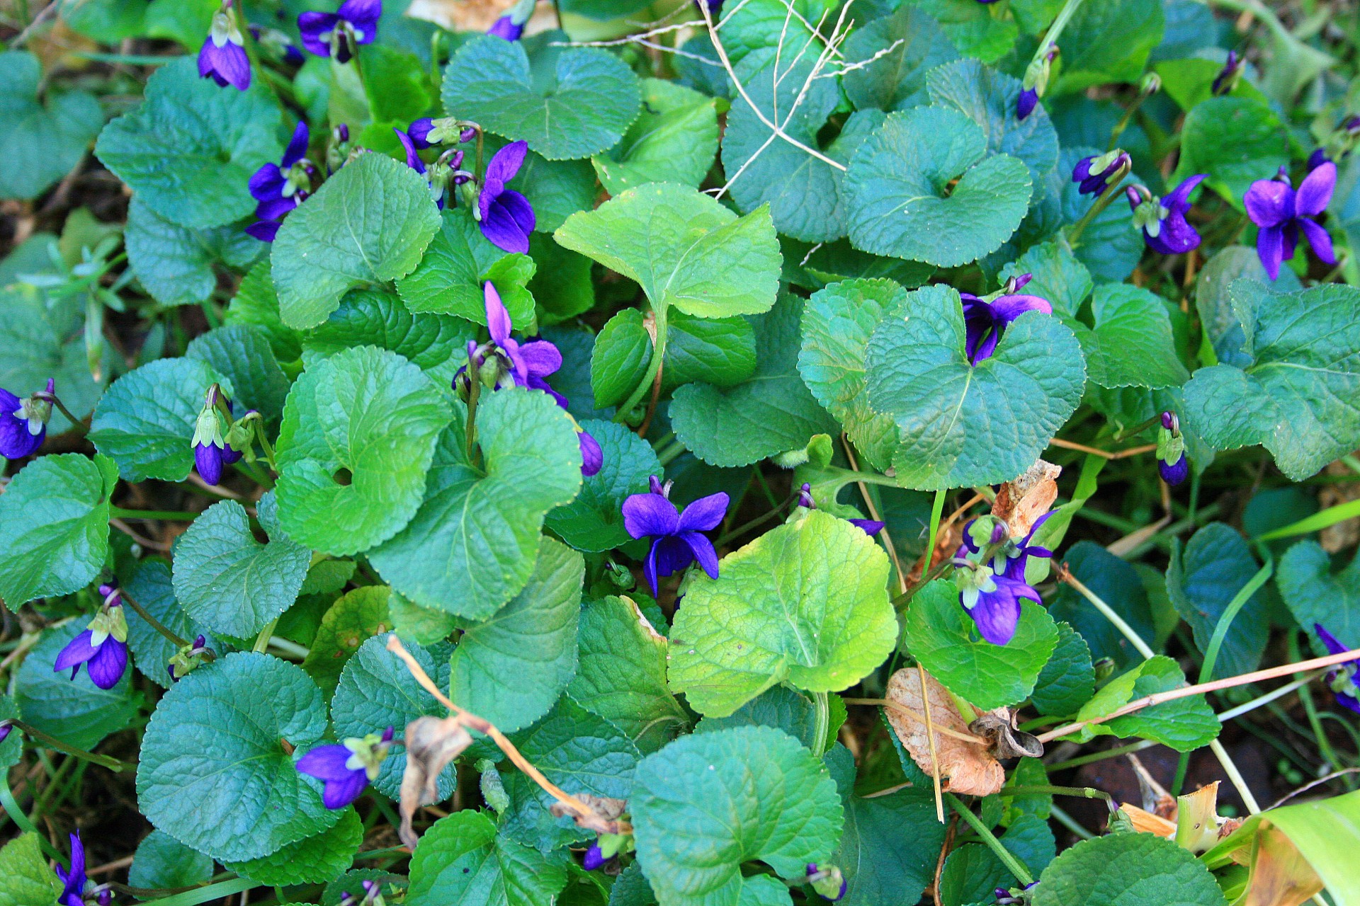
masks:
[[[126,481],[184,481],[208,387],[231,382],[197,359],[158,359],[118,378],[94,410],[90,440]]]

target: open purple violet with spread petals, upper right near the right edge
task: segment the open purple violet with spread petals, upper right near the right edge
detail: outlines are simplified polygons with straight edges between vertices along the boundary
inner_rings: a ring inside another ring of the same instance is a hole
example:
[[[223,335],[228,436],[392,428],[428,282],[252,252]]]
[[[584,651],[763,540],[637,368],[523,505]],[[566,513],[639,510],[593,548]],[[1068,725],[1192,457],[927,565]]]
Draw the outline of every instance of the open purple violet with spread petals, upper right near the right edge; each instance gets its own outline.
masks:
[[[1329,265],[1337,262],[1331,236],[1314,220],[1331,204],[1336,187],[1337,164],[1327,160],[1303,178],[1297,192],[1289,186],[1284,167],[1274,179],[1257,179],[1247,189],[1243,198],[1247,216],[1259,227],[1257,254],[1272,280],[1280,276],[1280,262],[1293,258],[1300,232],[1321,261]]]

